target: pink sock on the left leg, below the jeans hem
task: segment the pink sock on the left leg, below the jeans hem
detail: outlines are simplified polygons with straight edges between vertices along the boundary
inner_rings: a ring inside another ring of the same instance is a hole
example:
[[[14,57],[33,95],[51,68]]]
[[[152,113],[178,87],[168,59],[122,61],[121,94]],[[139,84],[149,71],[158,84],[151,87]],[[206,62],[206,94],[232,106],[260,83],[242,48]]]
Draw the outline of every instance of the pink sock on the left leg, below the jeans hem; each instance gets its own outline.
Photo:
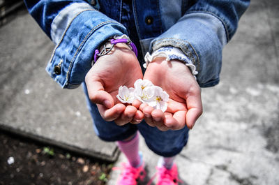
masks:
[[[139,155],[139,142],[140,138],[138,133],[136,133],[136,135],[131,140],[117,141],[119,149],[128,158],[130,165],[135,168],[141,165],[141,158]]]

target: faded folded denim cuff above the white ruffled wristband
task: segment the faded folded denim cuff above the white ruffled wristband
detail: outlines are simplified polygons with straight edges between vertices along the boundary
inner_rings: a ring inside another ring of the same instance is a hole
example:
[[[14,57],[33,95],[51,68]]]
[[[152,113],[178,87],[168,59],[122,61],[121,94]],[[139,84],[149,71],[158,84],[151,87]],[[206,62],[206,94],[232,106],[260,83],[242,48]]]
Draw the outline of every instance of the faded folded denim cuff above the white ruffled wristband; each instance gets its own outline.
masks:
[[[218,18],[208,13],[189,13],[151,41],[151,52],[165,46],[179,48],[195,65],[199,86],[211,87],[219,82],[226,41],[224,26]]]

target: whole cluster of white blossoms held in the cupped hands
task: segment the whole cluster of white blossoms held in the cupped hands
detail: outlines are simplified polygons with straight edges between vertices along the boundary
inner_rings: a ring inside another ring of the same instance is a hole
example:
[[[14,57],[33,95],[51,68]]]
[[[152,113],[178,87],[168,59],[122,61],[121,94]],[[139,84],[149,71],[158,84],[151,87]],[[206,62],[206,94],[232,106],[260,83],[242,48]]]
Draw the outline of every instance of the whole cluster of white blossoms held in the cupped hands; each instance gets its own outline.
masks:
[[[153,85],[149,80],[142,79],[135,81],[134,86],[135,88],[128,88],[126,86],[119,87],[119,94],[116,96],[119,101],[122,103],[133,103],[137,99],[163,112],[167,110],[169,95],[161,87]]]

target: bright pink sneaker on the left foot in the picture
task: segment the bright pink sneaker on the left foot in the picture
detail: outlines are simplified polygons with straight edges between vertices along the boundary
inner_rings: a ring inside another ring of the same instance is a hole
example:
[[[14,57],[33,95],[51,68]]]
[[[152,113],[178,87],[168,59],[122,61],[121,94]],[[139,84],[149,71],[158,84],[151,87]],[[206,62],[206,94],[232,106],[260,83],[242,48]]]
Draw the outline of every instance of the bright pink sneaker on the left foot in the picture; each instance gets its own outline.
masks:
[[[116,185],[137,185],[138,181],[143,181],[146,176],[144,163],[138,168],[134,168],[128,163],[123,163],[122,168],[113,168],[113,170],[122,170]]]

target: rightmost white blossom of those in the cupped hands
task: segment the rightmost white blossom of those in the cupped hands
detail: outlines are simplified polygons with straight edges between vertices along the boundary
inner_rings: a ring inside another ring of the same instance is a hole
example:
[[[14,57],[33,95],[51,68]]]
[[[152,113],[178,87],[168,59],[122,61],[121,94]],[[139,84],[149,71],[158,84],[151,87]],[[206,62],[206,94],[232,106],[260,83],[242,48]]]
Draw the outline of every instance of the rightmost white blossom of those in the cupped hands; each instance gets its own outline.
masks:
[[[158,86],[153,86],[153,93],[154,94],[151,98],[151,101],[147,103],[149,106],[165,112],[167,110],[167,101],[169,101],[169,95],[166,91],[163,91],[163,89]]]

